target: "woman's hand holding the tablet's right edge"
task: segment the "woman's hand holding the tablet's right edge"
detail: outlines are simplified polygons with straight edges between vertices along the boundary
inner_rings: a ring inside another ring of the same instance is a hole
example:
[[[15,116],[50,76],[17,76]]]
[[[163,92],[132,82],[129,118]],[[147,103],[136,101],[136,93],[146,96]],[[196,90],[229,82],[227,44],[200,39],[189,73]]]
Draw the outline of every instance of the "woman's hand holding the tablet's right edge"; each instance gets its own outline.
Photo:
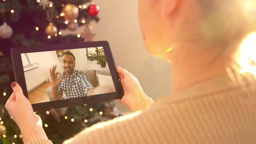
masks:
[[[148,96],[143,92],[138,79],[134,75],[125,69],[121,69],[119,66],[116,70],[125,93],[120,101],[132,111],[142,101],[148,99]]]

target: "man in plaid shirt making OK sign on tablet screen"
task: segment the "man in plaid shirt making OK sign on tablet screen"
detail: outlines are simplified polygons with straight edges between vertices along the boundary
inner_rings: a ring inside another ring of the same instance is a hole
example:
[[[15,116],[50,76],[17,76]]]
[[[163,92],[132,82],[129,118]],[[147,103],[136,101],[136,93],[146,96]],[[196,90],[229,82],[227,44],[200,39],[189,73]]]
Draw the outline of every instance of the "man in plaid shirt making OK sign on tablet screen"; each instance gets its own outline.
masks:
[[[75,56],[71,52],[62,54],[62,66],[64,72],[56,71],[56,65],[50,69],[50,81],[52,85],[51,101],[59,100],[63,91],[66,99],[87,96],[95,89],[83,72],[75,70]]]

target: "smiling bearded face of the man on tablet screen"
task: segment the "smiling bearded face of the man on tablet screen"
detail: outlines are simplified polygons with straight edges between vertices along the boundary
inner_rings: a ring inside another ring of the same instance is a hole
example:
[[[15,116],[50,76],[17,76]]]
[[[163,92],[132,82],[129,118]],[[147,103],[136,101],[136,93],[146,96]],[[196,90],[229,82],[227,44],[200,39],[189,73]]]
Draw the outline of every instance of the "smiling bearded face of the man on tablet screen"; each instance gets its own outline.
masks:
[[[62,66],[66,73],[72,74],[75,69],[75,60],[73,56],[64,55],[62,57]]]

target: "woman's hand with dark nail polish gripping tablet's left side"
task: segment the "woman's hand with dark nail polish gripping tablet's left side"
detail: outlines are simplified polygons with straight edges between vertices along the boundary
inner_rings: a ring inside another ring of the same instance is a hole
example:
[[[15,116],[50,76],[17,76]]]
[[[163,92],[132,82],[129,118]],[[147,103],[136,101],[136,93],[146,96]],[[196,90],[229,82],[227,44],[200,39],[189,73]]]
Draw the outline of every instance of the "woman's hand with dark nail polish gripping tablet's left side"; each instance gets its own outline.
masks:
[[[20,128],[23,143],[34,139],[48,139],[41,118],[34,114],[30,101],[23,95],[20,85],[16,82],[11,84],[13,93],[5,104],[5,108]]]

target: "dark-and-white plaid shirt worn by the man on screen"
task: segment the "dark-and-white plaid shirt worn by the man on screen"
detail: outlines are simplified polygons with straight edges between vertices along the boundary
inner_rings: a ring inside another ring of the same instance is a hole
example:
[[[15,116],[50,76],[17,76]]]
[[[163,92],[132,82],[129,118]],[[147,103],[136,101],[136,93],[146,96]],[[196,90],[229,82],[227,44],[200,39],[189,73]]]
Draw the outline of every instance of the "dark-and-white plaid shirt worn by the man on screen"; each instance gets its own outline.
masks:
[[[94,88],[84,72],[74,70],[72,75],[67,77],[64,71],[62,76],[63,79],[57,88],[59,98],[63,95],[63,91],[66,94],[66,99],[69,99],[86,96],[88,90]]]

